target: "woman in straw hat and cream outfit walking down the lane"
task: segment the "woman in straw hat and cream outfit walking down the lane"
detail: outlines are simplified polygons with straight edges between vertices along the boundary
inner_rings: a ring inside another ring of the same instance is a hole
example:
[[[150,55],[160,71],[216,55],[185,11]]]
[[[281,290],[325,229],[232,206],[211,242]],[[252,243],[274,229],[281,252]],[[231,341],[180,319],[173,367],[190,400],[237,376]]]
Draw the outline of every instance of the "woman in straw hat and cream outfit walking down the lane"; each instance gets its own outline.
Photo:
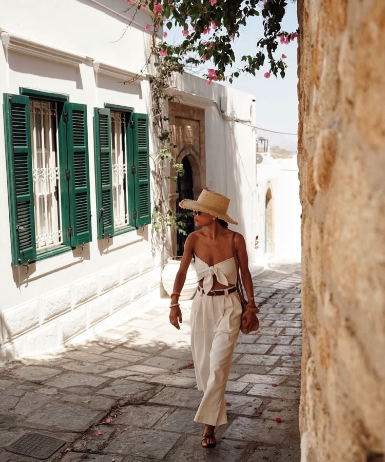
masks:
[[[193,210],[199,231],[191,233],[184,244],[183,257],[171,294],[170,322],[179,329],[182,314],[178,299],[186,279],[187,268],[195,255],[198,291],[191,306],[191,350],[198,390],[203,399],[194,418],[205,425],[202,446],[214,448],[214,429],[227,424],[224,392],[235,342],[242,322],[251,330],[257,322],[253,282],[248,269],[247,252],[242,235],[227,229],[227,223],[238,224],[227,215],[229,199],[203,189],[197,201],[184,199],[182,208]],[[233,243],[238,257],[243,285],[249,300],[242,315],[236,282]]]

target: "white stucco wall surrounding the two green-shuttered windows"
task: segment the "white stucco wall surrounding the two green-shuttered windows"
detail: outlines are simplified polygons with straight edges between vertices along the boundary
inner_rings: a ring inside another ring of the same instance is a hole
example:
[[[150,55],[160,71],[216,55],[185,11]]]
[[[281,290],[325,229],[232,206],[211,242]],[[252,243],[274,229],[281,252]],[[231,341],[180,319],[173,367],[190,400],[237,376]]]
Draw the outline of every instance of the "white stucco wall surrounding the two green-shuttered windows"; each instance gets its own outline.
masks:
[[[153,291],[159,296],[160,258],[151,245],[151,226],[115,236],[108,246],[107,240],[97,239],[93,108],[106,102],[149,112],[148,80],[122,83],[141,68],[150,39],[143,29],[148,15],[140,11],[138,24],[116,42],[128,25],[121,14],[126,8],[123,0],[2,3],[0,92],[33,88],[64,93],[71,102],[87,105],[92,242],[83,254],[75,248],[32,263],[28,275],[25,266],[12,268],[2,113],[0,361],[59,348],[82,332],[97,332],[101,322],[107,328],[143,310],[146,304],[135,302],[140,297]],[[94,63],[113,65],[118,75],[96,74]]]

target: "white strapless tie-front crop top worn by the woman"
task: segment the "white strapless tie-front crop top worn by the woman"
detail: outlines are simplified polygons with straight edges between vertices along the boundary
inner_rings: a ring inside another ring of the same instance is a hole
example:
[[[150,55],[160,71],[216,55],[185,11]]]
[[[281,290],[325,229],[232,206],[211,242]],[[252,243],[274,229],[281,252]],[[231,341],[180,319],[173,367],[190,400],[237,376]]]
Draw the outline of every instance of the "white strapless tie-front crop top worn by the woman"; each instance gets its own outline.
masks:
[[[203,290],[207,294],[213,287],[215,275],[217,281],[223,285],[234,285],[237,277],[237,267],[234,257],[220,261],[213,266],[209,266],[205,261],[195,256],[195,269],[198,282],[203,279]]]

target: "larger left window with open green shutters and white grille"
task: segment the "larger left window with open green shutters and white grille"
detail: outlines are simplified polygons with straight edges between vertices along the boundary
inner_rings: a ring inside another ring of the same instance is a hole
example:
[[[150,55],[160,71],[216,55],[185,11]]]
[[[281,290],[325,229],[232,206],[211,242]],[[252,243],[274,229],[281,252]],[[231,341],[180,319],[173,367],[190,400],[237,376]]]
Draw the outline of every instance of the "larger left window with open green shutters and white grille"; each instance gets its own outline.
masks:
[[[91,240],[86,106],[4,94],[12,263]]]

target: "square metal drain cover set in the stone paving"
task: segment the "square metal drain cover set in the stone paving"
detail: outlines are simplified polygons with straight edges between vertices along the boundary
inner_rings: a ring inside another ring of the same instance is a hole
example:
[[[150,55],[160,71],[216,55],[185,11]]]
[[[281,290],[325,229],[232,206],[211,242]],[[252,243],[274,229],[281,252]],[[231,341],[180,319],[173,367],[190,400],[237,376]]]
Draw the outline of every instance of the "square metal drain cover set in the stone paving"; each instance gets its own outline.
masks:
[[[26,433],[6,449],[16,454],[28,455],[37,459],[47,459],[65,444],[63,439],[51,438],[40,433]]]

